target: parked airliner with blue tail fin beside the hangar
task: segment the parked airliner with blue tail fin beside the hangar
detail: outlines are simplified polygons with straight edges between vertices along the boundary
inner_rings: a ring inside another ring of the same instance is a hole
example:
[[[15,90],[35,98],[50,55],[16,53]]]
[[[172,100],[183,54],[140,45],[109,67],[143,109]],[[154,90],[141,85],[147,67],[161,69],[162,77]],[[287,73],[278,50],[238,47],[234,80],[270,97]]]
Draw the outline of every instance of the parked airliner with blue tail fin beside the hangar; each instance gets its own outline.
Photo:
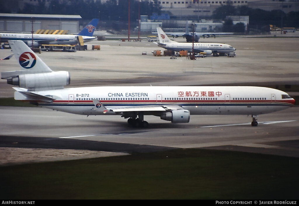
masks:
[[[98,19],[92,19],[78,34],[33,34],[33,47],[39,47],[42,44],[69,44],[79,43],[78,36],[82,36],[83,42],[96,40],[93,37],[94,30],[97,26]],[[22,40],[28,46],[32,46],[32,34],[22,33],[0,33],[0,42],[5,43],[8,40]]]

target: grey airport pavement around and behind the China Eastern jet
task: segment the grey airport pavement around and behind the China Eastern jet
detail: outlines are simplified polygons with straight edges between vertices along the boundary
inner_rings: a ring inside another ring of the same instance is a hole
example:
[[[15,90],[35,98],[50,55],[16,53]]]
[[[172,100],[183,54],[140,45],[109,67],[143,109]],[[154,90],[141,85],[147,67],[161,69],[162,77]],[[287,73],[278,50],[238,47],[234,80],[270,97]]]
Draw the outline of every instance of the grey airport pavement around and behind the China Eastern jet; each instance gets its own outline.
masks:
[[[71,73],[68,87],[299,85],[298,38],[219,37],[202,41],[228,43],[237,49],[237,56],[171,60],[152,55],[153,50],[164,50],[155,43],[117,40],[90,42],[87,51],[37,55],[52,70]],[[101,49],[91,50],[93,44]],[[147,55],[141,55],[144,51]],[[10,53],[2,49],[0,57]],[[1,60],[0,70],[19,70],[19,66],[15,58]],[[0,97],[13,97],[5,80],[0,80]],[[32,148],[31,157],[37,148],[120,153],[210,148],[299,156],[298,107],[261,115],[258,127],[251,127],[251,117],[246,116],[191,116],[187,124],[172,124],[154,116],[145,119],[149,128],[136,129],[129,128],[120,116],[86,117],[44,108],[0,107],[0,147]],[[24,155],[21,152],[19,156]]]

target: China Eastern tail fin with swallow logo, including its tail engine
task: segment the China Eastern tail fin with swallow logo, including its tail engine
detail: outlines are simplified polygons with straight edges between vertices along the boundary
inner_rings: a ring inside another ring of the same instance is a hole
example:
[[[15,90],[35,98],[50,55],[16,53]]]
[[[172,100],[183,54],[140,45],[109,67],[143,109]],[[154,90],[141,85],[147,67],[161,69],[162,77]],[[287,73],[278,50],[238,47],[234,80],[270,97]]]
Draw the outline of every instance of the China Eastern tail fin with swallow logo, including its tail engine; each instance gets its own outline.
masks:
[[[61,89],[70,83],[69,72],[53,72],[23,41],[8,42],[21,70],[1,72],[1,79],[7,79],[7,84],[37,91]]]

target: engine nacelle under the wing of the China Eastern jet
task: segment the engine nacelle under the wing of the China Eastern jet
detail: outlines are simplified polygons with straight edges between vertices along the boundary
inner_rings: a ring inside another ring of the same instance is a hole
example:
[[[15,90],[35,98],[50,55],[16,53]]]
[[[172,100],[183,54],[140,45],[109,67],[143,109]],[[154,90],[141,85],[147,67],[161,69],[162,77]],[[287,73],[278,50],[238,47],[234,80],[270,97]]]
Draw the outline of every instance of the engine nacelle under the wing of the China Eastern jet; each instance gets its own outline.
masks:
[[[172,110],[161,114],[161,119],[171,121],[172,123],[188,123],[190,121],[189,110]]]

